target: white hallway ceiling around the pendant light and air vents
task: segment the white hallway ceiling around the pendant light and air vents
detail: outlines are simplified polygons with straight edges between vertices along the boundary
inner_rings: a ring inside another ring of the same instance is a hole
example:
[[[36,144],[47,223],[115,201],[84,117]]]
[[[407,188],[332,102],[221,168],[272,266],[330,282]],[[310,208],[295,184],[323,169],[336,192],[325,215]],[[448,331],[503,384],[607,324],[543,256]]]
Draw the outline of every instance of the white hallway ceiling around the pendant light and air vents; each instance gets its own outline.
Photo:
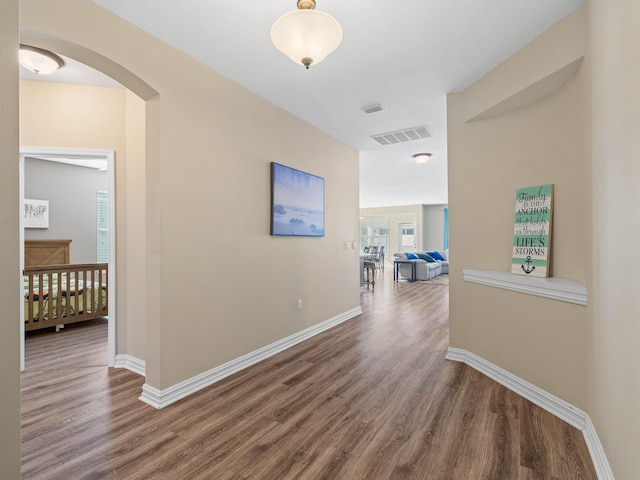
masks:
[[[269,36],[295,0],[93,1],[358,150],[363,208],[447,203],[447,93],[584,2],[317,0],[344,37],[305,70]],[[362,108],[373,104],[384,110],[365,115]],[[370,138],[422,125],[431,138],[392,146]],[[433,157],[415,164],[411,154],[423,151]]]

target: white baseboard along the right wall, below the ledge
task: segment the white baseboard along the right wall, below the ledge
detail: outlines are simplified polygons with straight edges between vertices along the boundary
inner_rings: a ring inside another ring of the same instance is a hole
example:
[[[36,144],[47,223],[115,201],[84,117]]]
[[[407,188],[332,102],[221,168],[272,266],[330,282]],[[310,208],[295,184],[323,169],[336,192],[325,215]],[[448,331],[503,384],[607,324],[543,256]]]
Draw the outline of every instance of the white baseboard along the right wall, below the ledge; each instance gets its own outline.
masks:
[[[586,412],[467,350],[449,347],[446,358],[447,360],[466,363],[480,373],[582,431],[593,466],[598,474],[598,479],[614,480],[613,472],[611,471],[609,461],[604,453],[596,429]]]

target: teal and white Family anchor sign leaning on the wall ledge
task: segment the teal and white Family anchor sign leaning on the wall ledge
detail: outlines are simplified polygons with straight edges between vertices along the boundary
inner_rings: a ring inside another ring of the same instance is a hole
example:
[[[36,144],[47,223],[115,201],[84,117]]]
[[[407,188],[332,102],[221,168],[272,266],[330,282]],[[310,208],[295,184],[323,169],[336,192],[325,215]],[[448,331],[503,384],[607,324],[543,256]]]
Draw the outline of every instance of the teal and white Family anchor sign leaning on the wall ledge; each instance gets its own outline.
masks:
[[[516,191],[511,273],[549,276],[552,217],[552,184]]]

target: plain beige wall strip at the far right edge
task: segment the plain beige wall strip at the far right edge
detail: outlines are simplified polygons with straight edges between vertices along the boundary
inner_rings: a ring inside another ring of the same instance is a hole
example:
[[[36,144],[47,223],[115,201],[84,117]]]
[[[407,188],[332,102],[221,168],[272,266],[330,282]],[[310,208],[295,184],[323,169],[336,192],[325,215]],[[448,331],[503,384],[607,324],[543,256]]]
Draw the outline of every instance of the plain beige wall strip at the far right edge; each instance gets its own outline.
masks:
[[[640,4],[592,0],[590,13],[594,275],[588,411],[615,477],[624,480],[640,478]]]

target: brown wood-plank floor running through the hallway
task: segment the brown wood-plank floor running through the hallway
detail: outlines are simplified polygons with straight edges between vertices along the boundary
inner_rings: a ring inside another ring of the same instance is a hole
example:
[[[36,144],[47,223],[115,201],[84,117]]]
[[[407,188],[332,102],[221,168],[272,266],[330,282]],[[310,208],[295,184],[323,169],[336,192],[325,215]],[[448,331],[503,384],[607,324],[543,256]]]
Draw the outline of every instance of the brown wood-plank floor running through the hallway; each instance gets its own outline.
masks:
[[[394,283],[364,313],[155,410],[106,368],[106,325],[30,335],[23,479],[595,479],[581,432],[445,360],[448,287]]]

